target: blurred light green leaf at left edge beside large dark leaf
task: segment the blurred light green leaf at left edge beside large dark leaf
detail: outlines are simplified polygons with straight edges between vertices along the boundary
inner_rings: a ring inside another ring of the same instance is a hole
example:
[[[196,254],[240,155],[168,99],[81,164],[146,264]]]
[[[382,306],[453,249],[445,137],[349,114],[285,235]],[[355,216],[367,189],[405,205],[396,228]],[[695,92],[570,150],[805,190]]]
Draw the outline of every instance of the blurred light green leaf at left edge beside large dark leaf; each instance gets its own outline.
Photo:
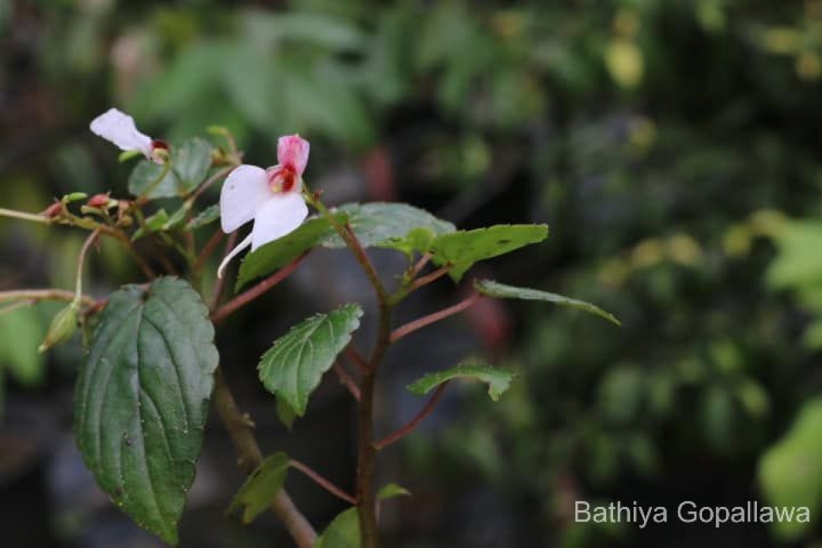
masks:
[[[0,369],[26,386],[42,382],[46,361],[37,352],[47,325],[35,306],[22,306],[0,314]]]

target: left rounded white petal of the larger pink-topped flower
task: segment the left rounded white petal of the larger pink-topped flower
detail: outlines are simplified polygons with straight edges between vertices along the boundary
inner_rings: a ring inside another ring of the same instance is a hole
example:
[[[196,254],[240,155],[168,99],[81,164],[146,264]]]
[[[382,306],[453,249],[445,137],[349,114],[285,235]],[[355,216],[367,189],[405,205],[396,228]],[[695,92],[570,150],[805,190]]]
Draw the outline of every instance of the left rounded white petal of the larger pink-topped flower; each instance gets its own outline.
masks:
[[[219,195],[219,217],[224,233],[233,233],[254,219],[263,204],[273,196],[268,189],[266,170],[256,165],[241,165],[229,173]]]

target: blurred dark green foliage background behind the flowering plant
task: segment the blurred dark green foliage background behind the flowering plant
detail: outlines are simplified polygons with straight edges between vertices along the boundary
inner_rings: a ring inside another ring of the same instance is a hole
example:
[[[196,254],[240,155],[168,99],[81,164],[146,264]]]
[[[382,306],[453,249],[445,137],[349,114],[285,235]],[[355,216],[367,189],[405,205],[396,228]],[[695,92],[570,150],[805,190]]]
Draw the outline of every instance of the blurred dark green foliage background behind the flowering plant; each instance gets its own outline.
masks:
[[[506,303],[455,321],[453,337],[426,335],[429,350],[482,349],[520,380],[495,404],[457,390],[391,450],[382,473],[416,496],[386,515],[387,546],[820,546],[819,0],[0,0],[0,60],[0,207],[123,196],[130,167],[87,129],[117,106],[172,141],[229,127],[251,163],[275,163],[277,137],[298,131],[332,202],[408,201],[460,228],[551,226],[547,245],[485,273],[597,302],[623,328]],[[82,238],[0,219],[0,288],[71,288]],[[98,291],[133,281],[130,265],[104,246]],[[453,302],[447,289],[426,293],[427,310]],[[223,336],[230,356],[259,356],[276,329],[251,348],[242,329],[272,310],[300,317],[286,292],[269,304]],[[81,350],[35,354],[50,313],[0,315],[0,534],[157,546],[106,513],[69,449]],[[253,362],[236,365],[240,398],[273,417]],[[419,406],[395,398],[403,380],[381,388],[398,417]],[[322,412],[289,443],[318,467],[334,460],[350,486],[353,425]],[[212,523],[239,482],[223,464],[182,546],[270,546],[276,523]],[[301,489],[316,524],[339,509]],[[760,500],[813,519],[640,530],[574,523],[575,500]]]

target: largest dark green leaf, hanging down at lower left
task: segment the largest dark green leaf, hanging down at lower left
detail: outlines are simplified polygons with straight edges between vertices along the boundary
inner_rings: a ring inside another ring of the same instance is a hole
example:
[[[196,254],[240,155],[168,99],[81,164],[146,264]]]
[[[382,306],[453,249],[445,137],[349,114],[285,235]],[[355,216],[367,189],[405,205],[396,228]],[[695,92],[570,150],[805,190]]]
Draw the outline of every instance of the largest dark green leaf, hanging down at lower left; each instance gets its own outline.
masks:
[[[124,286],[99,316],[74,431],[102,490],[169,544],[192,485],[219,357],[200,295],[176,278]]]

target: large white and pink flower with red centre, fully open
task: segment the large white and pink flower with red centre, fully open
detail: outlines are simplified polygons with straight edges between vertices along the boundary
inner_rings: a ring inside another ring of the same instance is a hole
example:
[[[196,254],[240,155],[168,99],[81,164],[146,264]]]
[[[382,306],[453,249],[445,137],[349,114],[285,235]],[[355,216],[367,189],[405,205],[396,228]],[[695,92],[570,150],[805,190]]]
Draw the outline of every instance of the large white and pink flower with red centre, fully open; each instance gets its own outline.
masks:
[[[229,173],[219,196],[224,233],[233,233],[253,220],[254,228],[225,257],[217,269],[222,278],[229,261],[251,246],[252,251],[297,229],[308,216],[302,198],[302,172],[308,163],[308,141],[298,135],[277,143],[279,163],[267,169],[243,164]]]

